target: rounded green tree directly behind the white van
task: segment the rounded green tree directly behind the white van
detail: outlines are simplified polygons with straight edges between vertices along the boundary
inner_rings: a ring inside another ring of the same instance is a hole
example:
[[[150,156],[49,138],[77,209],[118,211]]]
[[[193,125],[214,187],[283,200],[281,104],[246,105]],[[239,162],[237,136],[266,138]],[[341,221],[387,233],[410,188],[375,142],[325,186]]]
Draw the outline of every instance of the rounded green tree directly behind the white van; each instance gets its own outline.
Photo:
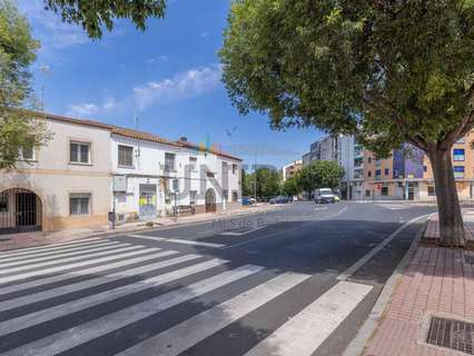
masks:
[[[304,191],[313,191],[318,188],[337,188],[344,177],[344,168],[335,161],[315,160],[298,171],[298,186]]]

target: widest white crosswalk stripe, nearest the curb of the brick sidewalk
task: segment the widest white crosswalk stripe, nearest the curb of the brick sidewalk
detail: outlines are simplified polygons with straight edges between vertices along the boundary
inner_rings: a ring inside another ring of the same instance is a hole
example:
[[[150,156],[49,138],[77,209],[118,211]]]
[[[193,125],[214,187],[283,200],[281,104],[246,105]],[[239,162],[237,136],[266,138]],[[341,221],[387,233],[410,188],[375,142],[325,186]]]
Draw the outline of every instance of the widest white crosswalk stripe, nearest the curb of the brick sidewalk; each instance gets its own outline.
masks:
[[[310,356],[372,288],[367,285],[339,281],[245,356]]]

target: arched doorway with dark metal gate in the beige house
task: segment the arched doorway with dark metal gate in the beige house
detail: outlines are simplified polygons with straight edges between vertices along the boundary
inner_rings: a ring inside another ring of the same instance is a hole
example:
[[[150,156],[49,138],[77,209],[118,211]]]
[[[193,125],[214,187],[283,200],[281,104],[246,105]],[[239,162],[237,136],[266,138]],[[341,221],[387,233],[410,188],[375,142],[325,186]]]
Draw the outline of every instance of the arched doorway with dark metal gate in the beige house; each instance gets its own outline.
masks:
[[[41,199],[31,190],[13,188],[0,192],[0,234],[40,231]]]

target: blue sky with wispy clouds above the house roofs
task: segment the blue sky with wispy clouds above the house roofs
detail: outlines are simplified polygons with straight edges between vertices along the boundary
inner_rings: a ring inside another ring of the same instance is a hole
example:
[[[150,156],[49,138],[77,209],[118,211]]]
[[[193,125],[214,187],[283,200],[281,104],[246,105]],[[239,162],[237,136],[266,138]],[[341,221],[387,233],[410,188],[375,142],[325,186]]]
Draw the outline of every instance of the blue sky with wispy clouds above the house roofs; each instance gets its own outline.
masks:
[[[217,51],[228,0],[169,1],[167,16],[145,32],[120,21],[100,41],[43,10],[42,0],[17,0],[41,41],[34,88],[46,110],[138,127],[168,139],[210,140],[253,164],[277,168],[309,150],[317,130],[273,131],[268,118],[240,116],[220,82]]]

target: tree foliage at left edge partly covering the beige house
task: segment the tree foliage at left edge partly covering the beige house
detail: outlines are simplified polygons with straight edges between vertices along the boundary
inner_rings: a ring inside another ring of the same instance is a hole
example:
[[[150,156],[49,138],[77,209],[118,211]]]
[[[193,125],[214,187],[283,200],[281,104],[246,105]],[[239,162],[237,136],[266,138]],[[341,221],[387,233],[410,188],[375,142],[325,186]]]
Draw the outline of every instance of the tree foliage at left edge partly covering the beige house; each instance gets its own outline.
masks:
[[[0,0],[0,169],[14,167],[21,149],[50,137],[43,122],[19,107],[31,102],[31,73],[39,47],[27,20],[12,2]]]

